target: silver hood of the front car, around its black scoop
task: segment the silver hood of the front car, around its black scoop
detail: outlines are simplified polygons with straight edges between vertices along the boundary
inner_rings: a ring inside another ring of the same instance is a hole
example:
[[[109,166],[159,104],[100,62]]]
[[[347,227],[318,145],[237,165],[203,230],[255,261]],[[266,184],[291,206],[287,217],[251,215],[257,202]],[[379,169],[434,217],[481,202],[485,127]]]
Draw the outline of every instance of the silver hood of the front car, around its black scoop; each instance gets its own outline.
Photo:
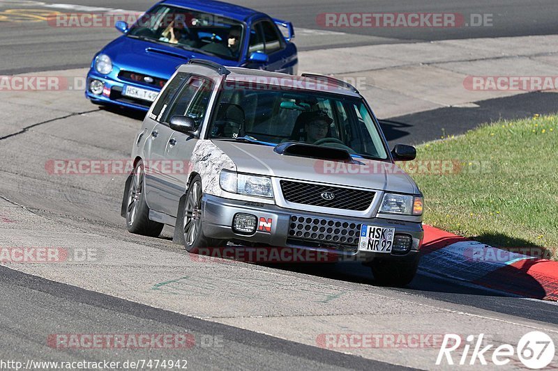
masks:
[[[280,155],[270,145],[213,140],[234,161],[240,173],[310,180],[364,189],[419,194],[415,182],[386,161],[355,159],[352,164],[309,157]]]

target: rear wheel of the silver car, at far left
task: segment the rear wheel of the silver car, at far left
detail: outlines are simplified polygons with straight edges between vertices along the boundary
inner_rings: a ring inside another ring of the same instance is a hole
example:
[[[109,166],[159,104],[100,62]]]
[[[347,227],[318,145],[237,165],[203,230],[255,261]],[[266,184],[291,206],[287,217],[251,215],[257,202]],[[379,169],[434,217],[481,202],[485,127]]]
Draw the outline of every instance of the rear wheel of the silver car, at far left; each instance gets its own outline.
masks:
[[[158,237],[165,225],[149,220],[149,207],[145,202],[144,185],[144,164],[142,161],[138,161],[132,173],[130,189],[128,189],[126,228],[128,232],[135,235]]]

